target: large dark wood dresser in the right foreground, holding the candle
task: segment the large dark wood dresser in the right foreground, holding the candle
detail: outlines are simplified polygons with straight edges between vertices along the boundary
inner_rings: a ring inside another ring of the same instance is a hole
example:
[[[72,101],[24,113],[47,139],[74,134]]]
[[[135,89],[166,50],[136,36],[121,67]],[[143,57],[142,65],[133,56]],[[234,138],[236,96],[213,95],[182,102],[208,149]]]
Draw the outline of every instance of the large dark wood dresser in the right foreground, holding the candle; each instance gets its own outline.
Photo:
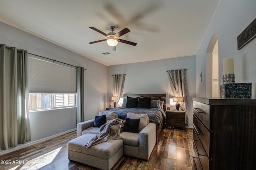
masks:
[[[254,170],[256,99],[193,98],[193,170]]]

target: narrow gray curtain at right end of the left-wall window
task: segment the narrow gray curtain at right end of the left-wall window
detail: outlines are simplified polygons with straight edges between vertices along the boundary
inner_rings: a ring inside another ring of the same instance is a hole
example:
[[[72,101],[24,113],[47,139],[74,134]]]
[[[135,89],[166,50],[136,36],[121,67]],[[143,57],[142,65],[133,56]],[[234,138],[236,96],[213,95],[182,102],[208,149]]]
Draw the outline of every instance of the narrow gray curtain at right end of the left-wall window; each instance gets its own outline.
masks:
[[[84,68],[76,69],[76,123],[84,121]]]

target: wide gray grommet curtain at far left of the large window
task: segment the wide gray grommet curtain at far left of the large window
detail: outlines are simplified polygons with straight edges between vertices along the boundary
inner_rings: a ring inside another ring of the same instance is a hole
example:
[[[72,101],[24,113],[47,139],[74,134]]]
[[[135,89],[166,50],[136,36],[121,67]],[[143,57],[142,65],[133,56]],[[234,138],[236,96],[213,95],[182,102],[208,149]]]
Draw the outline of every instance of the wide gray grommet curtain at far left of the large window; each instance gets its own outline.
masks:
[[[31,140],[28,52],[0,44],[0,149]]]

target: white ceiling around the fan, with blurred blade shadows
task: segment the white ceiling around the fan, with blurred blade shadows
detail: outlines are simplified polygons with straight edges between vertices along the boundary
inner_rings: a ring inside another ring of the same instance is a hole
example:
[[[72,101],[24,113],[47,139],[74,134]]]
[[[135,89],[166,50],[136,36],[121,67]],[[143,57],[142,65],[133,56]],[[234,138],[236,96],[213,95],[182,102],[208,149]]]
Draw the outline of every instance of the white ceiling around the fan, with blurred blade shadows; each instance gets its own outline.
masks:
[[[106,66],[195,55],[219,0],[0,0],[0,21]],[[112,9],[112,10],[111,10]],[[129,28],[108,52],[106,34]]]

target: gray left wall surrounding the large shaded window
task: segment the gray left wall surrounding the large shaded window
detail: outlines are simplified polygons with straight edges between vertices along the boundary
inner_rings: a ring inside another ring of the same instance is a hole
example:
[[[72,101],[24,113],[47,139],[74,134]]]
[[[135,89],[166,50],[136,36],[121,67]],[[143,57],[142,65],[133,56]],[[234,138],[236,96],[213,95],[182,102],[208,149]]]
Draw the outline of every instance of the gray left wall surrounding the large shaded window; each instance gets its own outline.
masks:
[[[89,120],[106,107],[107,66],[94,62],[84,56],[66,50],[46,40],[0,22],[0,44],[14,46],[87,70],[84,92],[84,119]],[[76,128],[76,108],[30,112],[32,141],[46,138]]]

